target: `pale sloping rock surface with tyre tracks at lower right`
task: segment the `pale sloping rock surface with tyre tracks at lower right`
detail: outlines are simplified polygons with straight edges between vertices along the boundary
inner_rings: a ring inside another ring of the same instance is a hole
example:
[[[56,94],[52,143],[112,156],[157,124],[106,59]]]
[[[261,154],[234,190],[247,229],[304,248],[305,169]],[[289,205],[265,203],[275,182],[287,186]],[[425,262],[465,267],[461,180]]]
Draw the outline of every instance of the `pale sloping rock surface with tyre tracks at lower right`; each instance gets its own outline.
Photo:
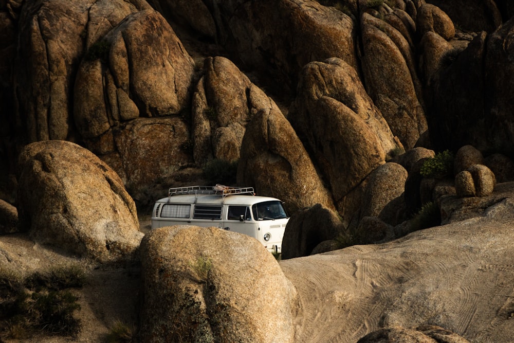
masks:
[[[514,202],[512,184],[504,185],[495,200],[484,198],[483,216],[281,261],[300,299],[295,340],[355,341],[426,323],[470,341],[509,341]]]

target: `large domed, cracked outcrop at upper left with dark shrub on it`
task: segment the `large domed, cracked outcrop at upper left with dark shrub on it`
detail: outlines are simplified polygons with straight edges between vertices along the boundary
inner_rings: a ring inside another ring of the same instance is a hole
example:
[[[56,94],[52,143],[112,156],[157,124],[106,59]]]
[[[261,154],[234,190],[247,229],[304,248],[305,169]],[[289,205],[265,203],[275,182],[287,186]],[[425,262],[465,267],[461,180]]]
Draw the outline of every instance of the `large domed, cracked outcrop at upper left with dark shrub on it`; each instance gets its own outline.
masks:
[[[93,141],[88,148],[112,152],[110,129],[120,122],[178,114],[192,75],[192,58],[158,12],[127,16],[89,47],[78,71],[74,119],[86,142]],[[95,146],[99,137],[105,143]]]

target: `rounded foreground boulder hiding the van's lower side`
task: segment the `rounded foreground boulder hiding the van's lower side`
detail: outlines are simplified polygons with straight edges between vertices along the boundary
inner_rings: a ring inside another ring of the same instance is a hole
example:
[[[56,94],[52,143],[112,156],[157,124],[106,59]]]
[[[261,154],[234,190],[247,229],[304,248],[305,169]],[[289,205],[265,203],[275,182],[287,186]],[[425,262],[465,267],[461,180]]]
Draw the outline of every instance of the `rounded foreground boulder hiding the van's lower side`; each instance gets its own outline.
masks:
[[[163,227],[141,242],[141,264],[142,341],[294,341],[296,290],[258,241]]]

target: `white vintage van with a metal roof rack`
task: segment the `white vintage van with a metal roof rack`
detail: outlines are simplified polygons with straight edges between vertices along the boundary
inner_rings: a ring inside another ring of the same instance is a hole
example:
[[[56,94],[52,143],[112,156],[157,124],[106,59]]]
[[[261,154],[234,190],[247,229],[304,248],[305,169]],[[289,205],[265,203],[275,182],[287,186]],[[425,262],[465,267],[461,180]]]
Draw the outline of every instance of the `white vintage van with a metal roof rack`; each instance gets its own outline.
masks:
[[[247,234],[278,254],[288,220],[280,200],[256,196],[253,187],[189,186],[170,188],[168,197],[155,203],[152,229],[215,226]]]

